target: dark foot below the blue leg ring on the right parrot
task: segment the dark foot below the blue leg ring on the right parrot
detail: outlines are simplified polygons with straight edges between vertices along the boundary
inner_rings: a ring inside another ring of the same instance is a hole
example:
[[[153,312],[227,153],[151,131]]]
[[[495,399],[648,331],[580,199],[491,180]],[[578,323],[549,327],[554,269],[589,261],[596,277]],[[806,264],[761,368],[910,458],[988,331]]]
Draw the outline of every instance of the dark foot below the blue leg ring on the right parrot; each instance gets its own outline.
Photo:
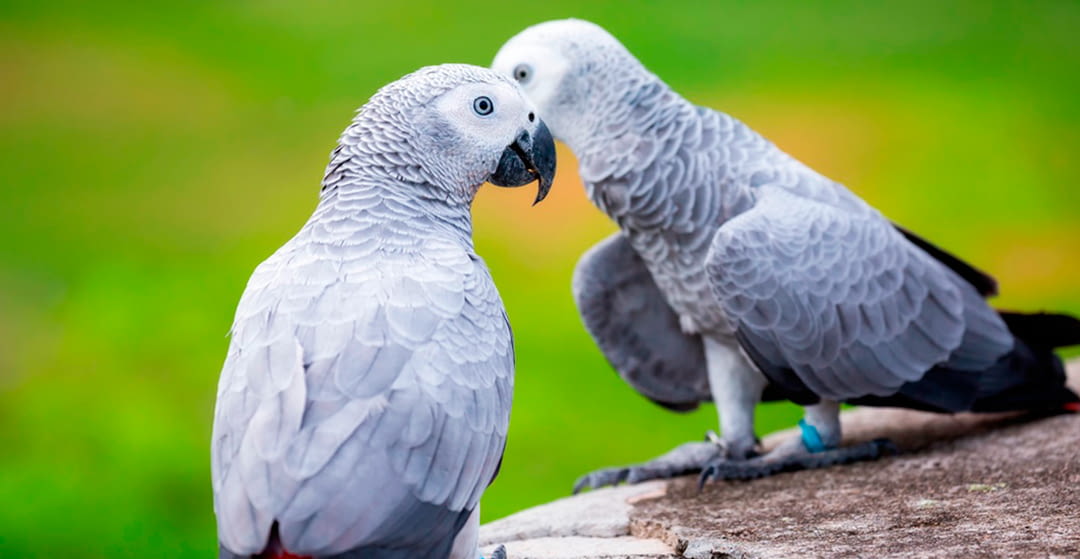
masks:
[[[874,439],[850,447],[842,447],[821,452],[810,452],[801,439],[795,438],[771,452],[750,460],[714,460],[701,472],[698,478],[699,489],[706,481],[720,479],[756,479],[780,474],[781,472],[797,472],[800,469],[816,469],[835,464],[850,464],[877,460],[883,455],[897,453],[896,446],[889,439]]]

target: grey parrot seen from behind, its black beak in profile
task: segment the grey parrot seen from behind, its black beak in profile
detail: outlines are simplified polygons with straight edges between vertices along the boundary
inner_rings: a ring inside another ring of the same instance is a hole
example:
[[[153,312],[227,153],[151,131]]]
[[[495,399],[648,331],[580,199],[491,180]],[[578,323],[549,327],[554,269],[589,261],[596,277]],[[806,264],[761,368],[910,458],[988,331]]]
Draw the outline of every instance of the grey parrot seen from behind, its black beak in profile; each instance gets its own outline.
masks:
[[[514,350],[472,242],[484,181],[540,183],[551,134],[513,81],[428,67],[346,128],[319,205],[252,275],[214,415],[220,556],[478,557]]]

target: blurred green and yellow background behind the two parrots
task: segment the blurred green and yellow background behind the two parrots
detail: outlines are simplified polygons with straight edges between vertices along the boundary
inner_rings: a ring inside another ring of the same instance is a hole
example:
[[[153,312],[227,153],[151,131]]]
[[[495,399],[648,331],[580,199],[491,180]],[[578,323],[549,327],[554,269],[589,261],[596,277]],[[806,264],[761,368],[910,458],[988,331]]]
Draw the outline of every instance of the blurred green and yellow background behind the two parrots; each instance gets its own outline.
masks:
[[[316,201],[353,111],[526,25],[608,27],[886,214],[1080,313],[1080,3],[0,3],[0,556],[211,557],[208,437],[237,300]],[[485,189],[517,335],[494,519],[715,428],[618,380],[569,297],[612,230],[572,159],[544,204]],[[798,411],[770,406],[765,433]]]

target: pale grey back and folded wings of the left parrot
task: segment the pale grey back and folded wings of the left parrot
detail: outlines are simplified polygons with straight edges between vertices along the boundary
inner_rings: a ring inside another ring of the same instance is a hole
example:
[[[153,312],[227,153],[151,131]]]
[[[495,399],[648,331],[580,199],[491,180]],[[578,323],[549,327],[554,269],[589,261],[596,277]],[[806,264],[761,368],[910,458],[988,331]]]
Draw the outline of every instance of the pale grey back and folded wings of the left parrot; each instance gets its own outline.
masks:
[[[291,551],[406,557],[448,548],[476,507],[505,445],[510,327],[478,257],[421,254],[342,270],[357,261],[301,246],[253,276],[214,425],[233,551],[260,551],[276,522]]]

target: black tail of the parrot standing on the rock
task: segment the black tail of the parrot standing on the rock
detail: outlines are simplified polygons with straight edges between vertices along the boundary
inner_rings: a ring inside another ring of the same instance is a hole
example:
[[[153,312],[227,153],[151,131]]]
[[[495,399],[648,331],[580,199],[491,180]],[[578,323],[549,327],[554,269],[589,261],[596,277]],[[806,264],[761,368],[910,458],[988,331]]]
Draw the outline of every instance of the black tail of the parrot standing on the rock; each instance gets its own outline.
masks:
[[[999,314],[1016,345],[984,376],[989,382],[980,387],[973,411],[1080,411],[1080,396],[1065,385],[1065,365],[1054,354],[1057,347],[1080,345],[1080,321],[1065,314]]]

